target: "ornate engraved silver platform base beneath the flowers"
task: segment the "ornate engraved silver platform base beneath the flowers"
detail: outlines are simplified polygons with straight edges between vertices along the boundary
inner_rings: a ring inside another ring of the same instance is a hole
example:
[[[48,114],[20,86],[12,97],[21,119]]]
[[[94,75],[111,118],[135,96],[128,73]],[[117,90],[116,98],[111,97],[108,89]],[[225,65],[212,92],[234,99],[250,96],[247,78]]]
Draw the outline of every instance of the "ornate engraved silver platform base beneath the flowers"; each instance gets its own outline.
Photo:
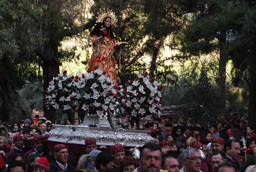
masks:
[[[52,125],[53,130],[50,131],[52,142],[62,142],[70,144],[84,145],[86,138],[94,138],[97,145],[110,146],[112,144],[122,144],[129,147],[142,147],[146,142],[154,139],[148,135],[148,130],[130,130],[122,128],[109,127],[88,127],[88,126],[65,126]],[[106,125],[105,125],[106,126]]]

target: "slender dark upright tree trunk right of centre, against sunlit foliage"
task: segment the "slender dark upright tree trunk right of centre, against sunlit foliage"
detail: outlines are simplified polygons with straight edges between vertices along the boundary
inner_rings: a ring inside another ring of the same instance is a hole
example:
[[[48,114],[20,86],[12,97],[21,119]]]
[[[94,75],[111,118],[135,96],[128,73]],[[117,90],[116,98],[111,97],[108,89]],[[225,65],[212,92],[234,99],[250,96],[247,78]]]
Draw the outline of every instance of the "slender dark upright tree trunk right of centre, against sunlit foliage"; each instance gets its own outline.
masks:
[[[223,31],[218,38],[220,47],[220,60],[219,60],[219,70],[216,74],[216,84],[218,88],[218,108],[219,115],[226,115],[226,64],[228,61],[228,56],[226,54],[226,32]]]

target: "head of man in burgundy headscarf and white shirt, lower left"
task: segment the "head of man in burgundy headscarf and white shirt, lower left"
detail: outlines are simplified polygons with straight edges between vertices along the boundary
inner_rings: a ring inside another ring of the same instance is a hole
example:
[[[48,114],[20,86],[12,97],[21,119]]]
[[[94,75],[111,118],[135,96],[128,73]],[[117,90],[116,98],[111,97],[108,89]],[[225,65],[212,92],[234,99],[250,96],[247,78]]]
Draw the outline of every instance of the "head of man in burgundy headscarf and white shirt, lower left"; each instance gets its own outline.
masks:
[[[68,161],[68,149],[64,144],[58,144],[53,147],[55,159],[62,165],[65,166]]]

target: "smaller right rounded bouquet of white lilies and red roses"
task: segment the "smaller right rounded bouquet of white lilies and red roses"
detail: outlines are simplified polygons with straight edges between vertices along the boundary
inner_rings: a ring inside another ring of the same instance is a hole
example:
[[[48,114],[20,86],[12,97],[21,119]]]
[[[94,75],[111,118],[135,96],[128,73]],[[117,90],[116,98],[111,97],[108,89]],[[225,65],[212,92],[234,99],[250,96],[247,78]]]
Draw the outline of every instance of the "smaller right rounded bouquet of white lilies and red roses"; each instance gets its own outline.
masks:
[[[156,114],[160,113],[162,106],[160,86],[152,75],[148,72],[144,74],[134,74],[134,80],[128,80],[129,84],[126,89],[119,89],[120,108],[122,116],[132,116],[137,119],[152,115],[156,118]]]

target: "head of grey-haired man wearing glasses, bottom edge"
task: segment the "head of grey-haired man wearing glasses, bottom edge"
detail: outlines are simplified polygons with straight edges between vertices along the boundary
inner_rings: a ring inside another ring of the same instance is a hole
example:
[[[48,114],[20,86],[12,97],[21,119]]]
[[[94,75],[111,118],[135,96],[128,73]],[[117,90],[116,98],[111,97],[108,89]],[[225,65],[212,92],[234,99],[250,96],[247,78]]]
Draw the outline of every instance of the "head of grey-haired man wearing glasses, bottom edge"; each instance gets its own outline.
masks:
[[[202,157],[200,150],[187,148],[183,152],[183,165],[187,172],[198,172],[201,168]]]

